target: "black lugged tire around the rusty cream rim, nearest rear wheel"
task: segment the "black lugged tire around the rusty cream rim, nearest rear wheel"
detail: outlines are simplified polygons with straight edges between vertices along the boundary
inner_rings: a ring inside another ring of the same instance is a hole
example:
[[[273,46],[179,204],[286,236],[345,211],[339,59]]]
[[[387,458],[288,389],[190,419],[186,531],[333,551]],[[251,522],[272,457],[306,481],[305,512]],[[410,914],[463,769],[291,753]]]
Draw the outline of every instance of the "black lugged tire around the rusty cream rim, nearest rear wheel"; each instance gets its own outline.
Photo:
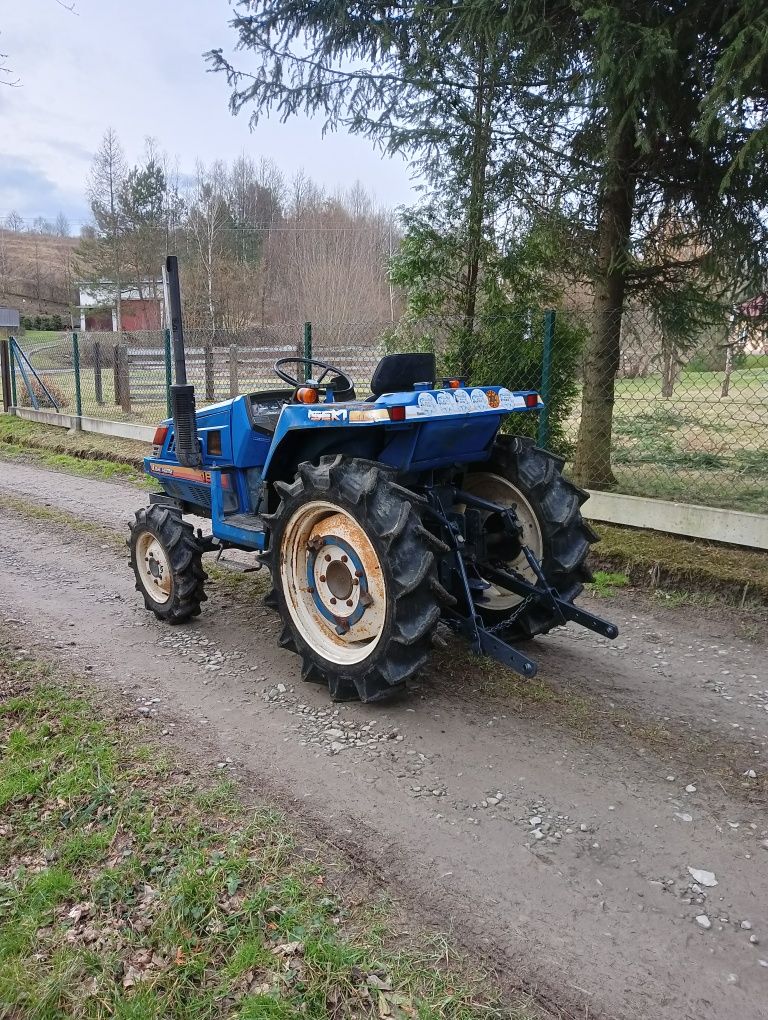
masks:
[[[283,618],[279,644],[301,656],[302,679],[326,682],[334,701],[376,702],[402,690],[427,660],[441,605],[454,601],[438,581],[434,539],[421,524],[419,502],[395,477],[375,462],[336,456],[301,464],[293,482],[275,487],[280,503],[268,521],[265,554],[273,588],[265,602]],[[305,641],[281,591],[284,530],[296,510],[314,500],[338,504],[357,520],[385,571],[390,604],[385,631],[371,654],[351,666],[331,665]]]

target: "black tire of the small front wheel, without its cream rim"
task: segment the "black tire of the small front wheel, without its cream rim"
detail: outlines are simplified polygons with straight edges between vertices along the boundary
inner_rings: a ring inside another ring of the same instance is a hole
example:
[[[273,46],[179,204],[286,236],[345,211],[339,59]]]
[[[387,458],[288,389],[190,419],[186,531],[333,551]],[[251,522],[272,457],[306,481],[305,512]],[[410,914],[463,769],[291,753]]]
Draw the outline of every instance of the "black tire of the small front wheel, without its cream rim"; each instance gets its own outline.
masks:
[[[136,577],[136,590],[144,597],[144,605],[165,623],[185,623],[200,615],[200,605],[205,602],[203,552],[195,539],[192,524],[168,507],[152,504],[136,511],[136,519],[129,524],[129,564]],[[172,574],[171,596],[159,604],[147,594],[140,580],[136,548],[140,536],[150,531],[160,542],[167,556]]]

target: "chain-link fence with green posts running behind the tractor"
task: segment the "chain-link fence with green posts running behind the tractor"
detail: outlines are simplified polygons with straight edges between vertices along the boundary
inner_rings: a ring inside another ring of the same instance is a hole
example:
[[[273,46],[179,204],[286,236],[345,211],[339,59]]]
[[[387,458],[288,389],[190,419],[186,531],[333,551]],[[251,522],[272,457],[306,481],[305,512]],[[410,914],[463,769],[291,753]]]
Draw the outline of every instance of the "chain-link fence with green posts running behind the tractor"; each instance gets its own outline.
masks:
[[[724,318],[683,341],[630,310],[618,358],[611,325],[597,353],[593,321],[567,309],[480,315],[471,329],[455,318],[189,329],[188,378],[202,407],[281,386],[274,361],[311,355],[347,371],[365,396],[383,354],[433,350],[439,378],[540,390],[546,414],[515,415],[505,427],[560,453],[582,483],[768,513],[768,319]],[[165,330],[13,347],[14,404],[146,424],[168,414]]]

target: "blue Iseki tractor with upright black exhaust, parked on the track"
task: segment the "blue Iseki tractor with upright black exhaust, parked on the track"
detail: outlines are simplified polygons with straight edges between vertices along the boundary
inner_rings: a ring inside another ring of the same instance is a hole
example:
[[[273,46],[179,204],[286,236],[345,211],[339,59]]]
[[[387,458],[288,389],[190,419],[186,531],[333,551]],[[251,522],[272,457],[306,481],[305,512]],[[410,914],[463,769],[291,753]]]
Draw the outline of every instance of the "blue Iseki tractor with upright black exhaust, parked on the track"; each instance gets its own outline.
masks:
[[[370,394],[316,359],[281,358],[285,387],[196,411],[186,382],[177,267],[166,263],[176,384],[147,473],[159,492],[129,546],[147,609],[200,613],[203,554],[256,552],[267,605],[302,678],[334,700],[379,701],[427,660],[441,623],[524,676],[515,645],[573,621],[616,626],[574,601],[596,536],[560,458],[502,432],[536,393],[436,381],[431,354],[392,354]],[[185,515],[210,518],[211,533]]]

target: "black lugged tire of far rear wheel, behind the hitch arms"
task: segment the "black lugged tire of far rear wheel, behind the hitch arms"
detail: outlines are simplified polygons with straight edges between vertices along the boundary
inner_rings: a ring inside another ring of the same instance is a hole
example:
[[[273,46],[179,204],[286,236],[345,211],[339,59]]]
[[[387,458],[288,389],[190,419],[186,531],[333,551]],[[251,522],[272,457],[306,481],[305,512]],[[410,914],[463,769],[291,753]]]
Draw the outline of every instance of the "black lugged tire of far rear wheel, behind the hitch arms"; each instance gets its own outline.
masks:
[[[592,580],[586,559],[598,536],[581,516],[580,508],[588,494],[563,477],[563,464],[562,458],[540,449],[530,439],[500,436],[491,459],[477,465],[477,470],[508,478],[528,500],[542,529],[544,575],[562,599],[573,602],[584,581]],[[499,621],[499,613],[478,608],[488,623]],[[531,604],[501,636],[505,641],[527,641],[547,633],[559,622],[545,606]]]

